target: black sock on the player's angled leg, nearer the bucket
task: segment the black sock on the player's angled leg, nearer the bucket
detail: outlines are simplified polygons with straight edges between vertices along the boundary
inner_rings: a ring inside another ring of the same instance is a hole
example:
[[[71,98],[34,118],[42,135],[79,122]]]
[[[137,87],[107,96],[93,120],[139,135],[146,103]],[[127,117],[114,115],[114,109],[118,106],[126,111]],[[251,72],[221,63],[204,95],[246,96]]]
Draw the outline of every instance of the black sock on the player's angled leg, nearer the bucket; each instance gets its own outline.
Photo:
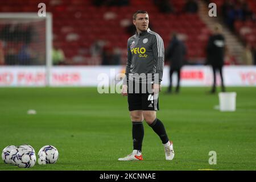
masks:
[[[152,122],[151,125],[149,126],[152,127],[156,134],[158,134],[163,144],[169,141],[168,136],[166,134],[166,129],[164,129],[163,123],[158,118],[156,118],[155,121]]]

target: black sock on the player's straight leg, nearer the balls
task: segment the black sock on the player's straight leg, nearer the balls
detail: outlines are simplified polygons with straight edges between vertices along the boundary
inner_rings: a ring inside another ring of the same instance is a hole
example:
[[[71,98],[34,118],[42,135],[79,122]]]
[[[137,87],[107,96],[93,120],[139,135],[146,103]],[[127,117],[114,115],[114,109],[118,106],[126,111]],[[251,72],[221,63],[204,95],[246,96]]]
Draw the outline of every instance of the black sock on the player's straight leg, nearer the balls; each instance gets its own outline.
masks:
[[[143,122],[133,121],[133,150],[141,151],[143,137],[144,137]]]

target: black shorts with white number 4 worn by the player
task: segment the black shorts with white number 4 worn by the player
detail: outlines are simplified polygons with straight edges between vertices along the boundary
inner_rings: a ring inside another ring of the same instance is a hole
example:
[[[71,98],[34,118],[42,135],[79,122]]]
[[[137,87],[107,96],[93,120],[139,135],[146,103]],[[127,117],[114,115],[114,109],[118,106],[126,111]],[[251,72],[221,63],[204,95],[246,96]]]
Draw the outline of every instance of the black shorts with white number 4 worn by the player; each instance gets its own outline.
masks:
[[[142,89],[142,88],[146,89]],[[131,92],[133,91],[133,92]],[[137,91],[137,92],[135,92]],[[139,84],[139,89],[127,89],[129,111],[133,110],[159,110],[158,94],[152,93],[152,84]]]

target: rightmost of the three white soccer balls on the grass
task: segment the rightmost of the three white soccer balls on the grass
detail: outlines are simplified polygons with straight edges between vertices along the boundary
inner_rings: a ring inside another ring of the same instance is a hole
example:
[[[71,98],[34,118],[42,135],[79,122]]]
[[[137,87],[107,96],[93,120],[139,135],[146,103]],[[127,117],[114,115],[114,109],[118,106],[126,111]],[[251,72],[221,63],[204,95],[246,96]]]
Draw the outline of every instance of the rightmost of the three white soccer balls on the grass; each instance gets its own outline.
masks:
[[[53,146],[43,146],[38,152],[38,164],[54,164],[58,158],[59,152]]]

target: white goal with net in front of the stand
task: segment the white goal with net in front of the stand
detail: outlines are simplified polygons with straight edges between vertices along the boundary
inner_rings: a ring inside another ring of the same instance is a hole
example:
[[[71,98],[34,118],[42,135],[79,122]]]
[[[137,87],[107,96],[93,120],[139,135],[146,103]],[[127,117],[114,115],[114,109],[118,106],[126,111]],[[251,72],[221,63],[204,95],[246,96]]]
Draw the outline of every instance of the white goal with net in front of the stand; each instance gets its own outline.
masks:
[[[0,64],[44,65],[49,86],[52,67],[52,14],[0,13]],[[0,58],[1,59],[1,58]]]

